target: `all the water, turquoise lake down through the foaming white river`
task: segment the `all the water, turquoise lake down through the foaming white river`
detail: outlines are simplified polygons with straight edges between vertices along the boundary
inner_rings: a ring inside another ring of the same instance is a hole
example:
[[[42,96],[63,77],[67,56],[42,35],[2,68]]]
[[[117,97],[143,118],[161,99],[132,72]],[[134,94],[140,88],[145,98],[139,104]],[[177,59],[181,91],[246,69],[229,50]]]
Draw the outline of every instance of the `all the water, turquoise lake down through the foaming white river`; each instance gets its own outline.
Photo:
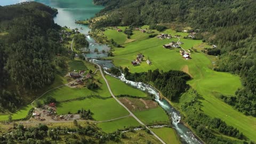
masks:
[[[87,18],[90,19],[95,15],[95,13],[103,9],[103,6],[93,5],[92,0],[0,0],[0,5],[4,6],[28,1],[40,2],[45,5],[54,7],[55,9],[58,9],[59,13],[56,17],[54,17],[55,23],[58,23],[58,25],[60,26],[67,26],[71,29],[78,28],[79,31],[85,35],[88,34],[90,28],[84,25],[76,24],[75,20],[84,20]],[[93,51],[95,48],[97,48],[99,51],[109,51],[109,47],[107,45],[95,43],[95,40],[90,36],[87,36],[87,41],[89,41],[90,43],[89,49],[91,51]],[[106,56],[107,55],[103,53],[86,54],[87,58],[98,58]],[[94,62],[99,63],[99,65],[105,68],[110,68],[114,66],[111,61],[95,60]],[[121,79],[121,81],[125,82],[126,84],[130,84],[136,87],[137,89],[140,89],[142,91],[147,90],[151,94],[154,94],[155,100],[159,103],[159,105],[172,116],[174,129],[181,137],[182,143],[202,143],[196,139],[195,135],[185,125],[180,123],[181,116],[179,114],[179,111],[175,110],[166,100],[160,100],[159,93],[153,87],[148,84],[128,81],[123,75],[117,78]]]

